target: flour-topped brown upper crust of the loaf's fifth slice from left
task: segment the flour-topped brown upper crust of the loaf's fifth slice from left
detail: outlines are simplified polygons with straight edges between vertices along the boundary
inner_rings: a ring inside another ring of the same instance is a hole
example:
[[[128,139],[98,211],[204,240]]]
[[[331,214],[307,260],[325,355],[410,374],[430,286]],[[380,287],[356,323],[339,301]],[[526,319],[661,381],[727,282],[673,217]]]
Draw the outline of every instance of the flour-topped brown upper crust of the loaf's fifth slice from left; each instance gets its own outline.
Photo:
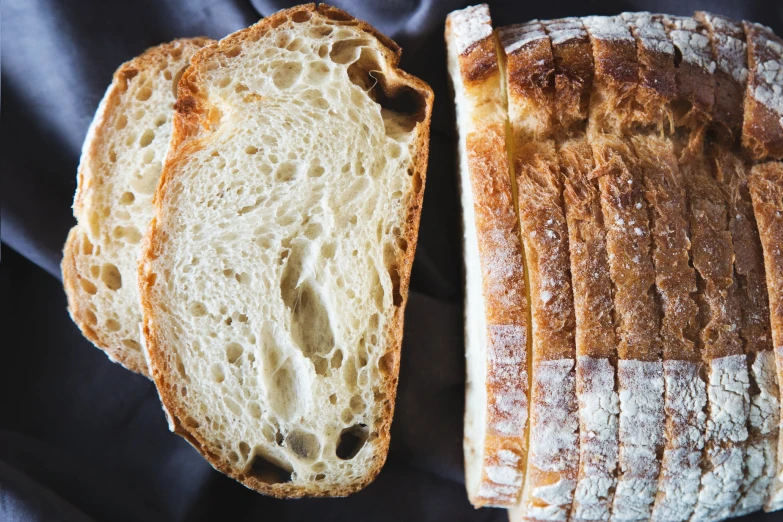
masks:
[[[636,39],[639,86],[634,117],[644,126],[670,130],[673,117],[669,103],[677,94],[674,45],[659,16],[645,12],[620,16]]]

